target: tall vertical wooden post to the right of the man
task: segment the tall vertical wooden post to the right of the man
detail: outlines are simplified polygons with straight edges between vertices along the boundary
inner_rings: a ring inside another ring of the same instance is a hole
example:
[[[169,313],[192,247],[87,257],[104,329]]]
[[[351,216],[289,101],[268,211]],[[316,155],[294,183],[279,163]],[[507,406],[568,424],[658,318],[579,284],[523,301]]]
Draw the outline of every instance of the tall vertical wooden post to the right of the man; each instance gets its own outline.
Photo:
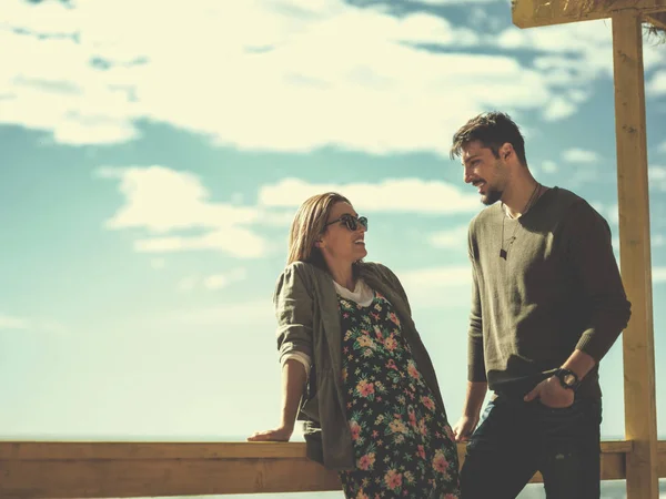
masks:
[[[627,498],[658,499],[657,417],[643,31],[640,12],[613,13],[622,276],[632,302],[624,332]]]

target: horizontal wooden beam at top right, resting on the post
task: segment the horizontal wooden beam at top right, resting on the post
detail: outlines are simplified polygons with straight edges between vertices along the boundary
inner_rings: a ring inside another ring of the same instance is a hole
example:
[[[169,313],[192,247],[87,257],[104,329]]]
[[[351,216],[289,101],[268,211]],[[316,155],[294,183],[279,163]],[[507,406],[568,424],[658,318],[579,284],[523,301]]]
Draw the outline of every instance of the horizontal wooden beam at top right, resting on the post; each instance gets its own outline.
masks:
[[[605,19],[627,9],[664,12],[666,0],[513,0],[512,17],[518,28],[535,28]]]

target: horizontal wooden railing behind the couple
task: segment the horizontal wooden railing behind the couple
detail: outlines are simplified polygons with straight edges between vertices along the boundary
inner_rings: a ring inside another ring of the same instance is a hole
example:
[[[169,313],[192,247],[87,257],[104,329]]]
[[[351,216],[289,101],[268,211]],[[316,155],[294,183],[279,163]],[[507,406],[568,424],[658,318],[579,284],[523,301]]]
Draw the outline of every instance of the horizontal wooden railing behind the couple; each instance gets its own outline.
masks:
[[[602,444],[603,480],[625,478],[632,448]],[[666,441],[658,462],[666,477]],[[337,475],[310,461],[304,444],[0,442],[2,499],[324,490],[340,490]]]

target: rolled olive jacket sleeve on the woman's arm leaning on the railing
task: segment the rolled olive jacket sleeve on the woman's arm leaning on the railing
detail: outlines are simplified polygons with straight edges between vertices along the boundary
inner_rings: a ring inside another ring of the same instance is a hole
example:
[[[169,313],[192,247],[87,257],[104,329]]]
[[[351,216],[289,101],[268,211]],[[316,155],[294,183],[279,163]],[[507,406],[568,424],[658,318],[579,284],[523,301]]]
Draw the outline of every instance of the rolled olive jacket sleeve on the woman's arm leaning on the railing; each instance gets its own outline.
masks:
[[[280,361],[300,352],[312,358],[313,299],[297,265],[290,265],[278,278],[273,304],[278,319]]]

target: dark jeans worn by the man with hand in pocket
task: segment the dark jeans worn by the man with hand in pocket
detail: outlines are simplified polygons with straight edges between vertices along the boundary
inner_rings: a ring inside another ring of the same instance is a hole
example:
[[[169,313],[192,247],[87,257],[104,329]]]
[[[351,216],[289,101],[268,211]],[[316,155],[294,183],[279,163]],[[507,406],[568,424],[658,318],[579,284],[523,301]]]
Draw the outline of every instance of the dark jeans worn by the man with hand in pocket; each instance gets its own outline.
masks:
[[[513,499],[536,471],[548,499],[598,499],[601,401],[565,409],[497,397],[470,438],[462,499]]]

